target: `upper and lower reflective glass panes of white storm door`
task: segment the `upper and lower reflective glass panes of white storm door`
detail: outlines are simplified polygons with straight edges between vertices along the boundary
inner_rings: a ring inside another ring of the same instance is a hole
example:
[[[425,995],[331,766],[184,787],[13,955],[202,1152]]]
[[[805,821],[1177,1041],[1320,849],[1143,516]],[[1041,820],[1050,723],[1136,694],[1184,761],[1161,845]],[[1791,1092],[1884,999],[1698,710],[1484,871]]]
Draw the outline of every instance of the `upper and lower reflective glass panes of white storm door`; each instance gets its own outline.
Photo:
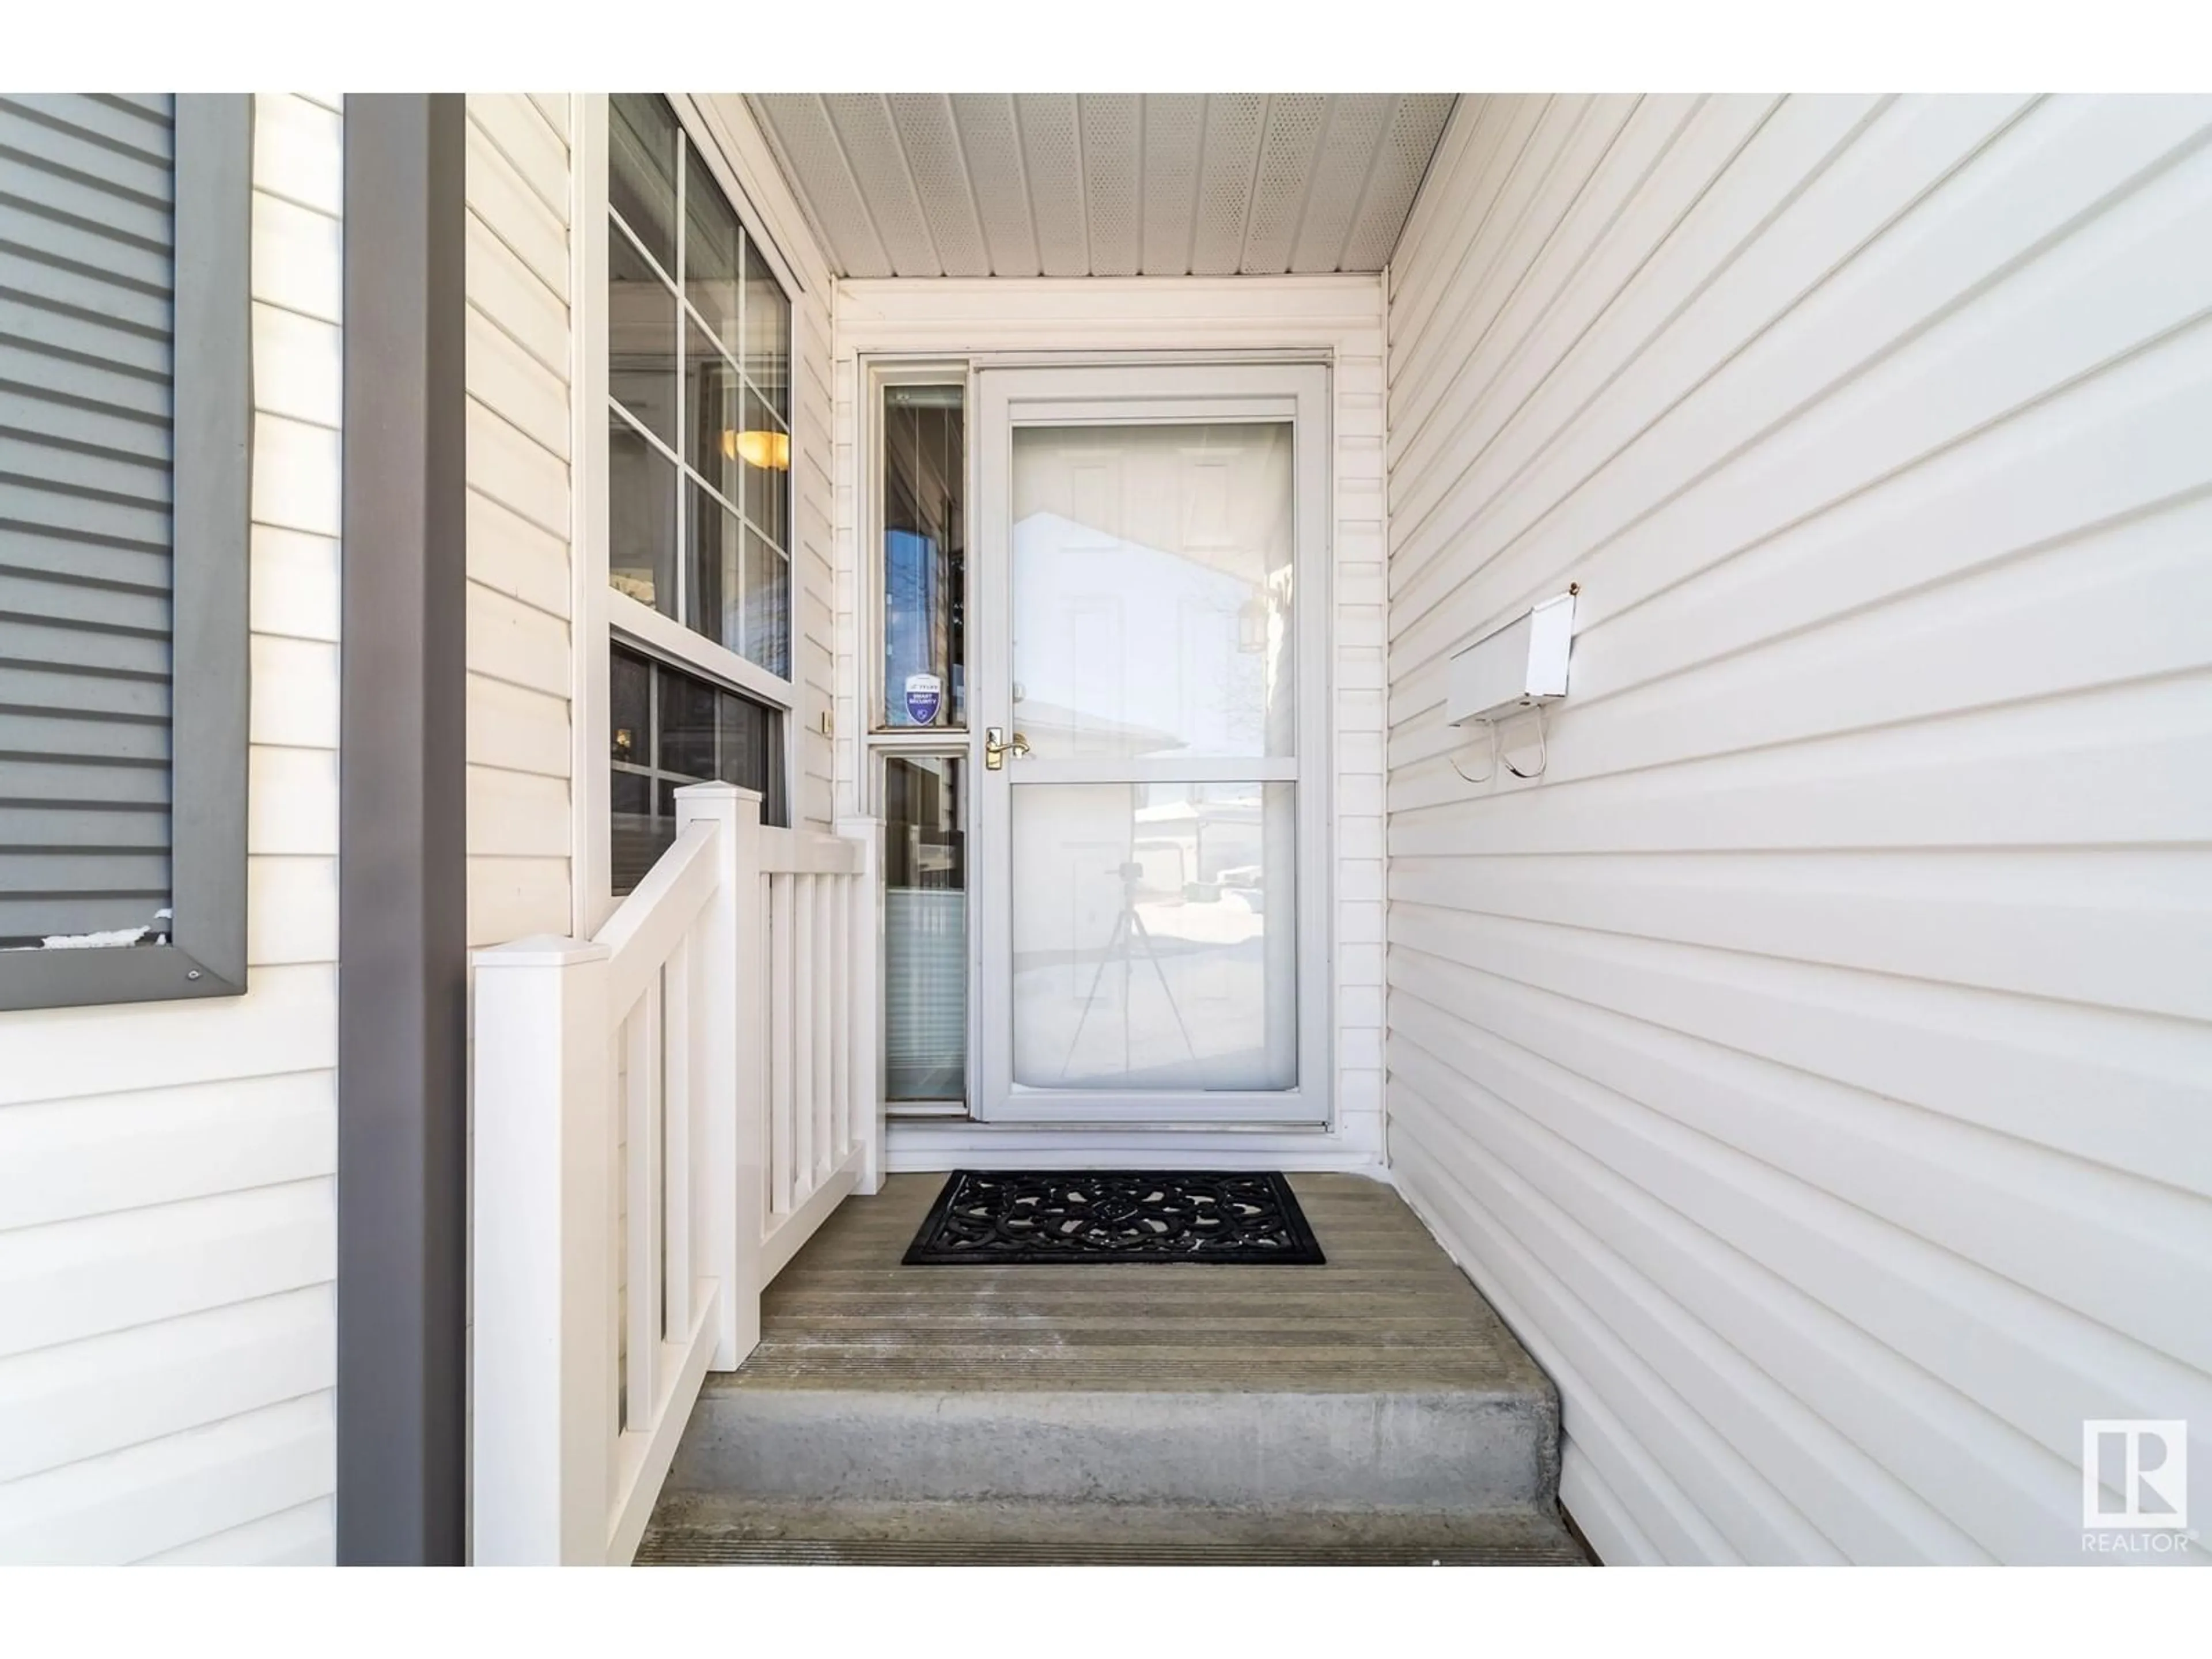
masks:
[[[1013,442],[1013,719],[1099,779],[1015,779],[1015,1084],[1290,1088],[1296,785],[1237,776],[1294,754],[1290,429]]]

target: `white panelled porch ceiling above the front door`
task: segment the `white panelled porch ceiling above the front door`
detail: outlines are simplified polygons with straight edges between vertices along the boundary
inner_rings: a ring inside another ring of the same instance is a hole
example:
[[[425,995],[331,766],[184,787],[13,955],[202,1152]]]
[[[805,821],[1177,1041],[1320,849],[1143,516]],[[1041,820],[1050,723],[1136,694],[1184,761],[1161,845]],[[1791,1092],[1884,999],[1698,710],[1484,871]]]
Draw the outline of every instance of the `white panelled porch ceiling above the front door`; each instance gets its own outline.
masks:
[[[841,276],[1383,270],[1451,93],[748,93]]]

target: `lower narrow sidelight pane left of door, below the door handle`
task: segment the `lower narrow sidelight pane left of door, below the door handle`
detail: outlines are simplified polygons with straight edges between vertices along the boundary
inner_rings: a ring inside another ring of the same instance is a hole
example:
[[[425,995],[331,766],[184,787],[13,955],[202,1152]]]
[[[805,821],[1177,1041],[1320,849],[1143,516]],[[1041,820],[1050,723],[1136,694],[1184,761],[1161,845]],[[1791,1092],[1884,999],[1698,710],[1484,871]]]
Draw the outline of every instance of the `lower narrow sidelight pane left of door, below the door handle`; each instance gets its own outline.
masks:
[[[967,1099],[967,763],[883,761],[885,1097]]]

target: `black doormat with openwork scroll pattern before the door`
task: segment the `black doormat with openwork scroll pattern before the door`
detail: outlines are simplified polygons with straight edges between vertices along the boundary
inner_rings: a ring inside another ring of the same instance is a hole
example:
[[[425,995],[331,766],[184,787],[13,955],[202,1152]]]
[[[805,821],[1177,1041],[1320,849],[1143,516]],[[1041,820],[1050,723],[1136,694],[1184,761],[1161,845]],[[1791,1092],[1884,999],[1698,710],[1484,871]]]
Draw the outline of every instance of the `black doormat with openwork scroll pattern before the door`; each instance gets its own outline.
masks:
[[[956,1170],[909,1267],[1219,1261],[1318,1267],[1327,1256],[1281,1175]]]

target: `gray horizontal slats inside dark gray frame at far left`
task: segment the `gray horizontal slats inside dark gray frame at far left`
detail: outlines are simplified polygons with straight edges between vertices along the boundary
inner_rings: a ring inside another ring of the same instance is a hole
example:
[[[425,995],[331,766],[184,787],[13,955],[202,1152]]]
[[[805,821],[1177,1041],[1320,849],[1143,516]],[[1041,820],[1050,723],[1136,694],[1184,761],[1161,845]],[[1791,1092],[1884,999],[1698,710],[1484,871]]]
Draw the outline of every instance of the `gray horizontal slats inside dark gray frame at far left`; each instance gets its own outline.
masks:
[[[170,905],[173,157],[0,97],[0,947]]]

